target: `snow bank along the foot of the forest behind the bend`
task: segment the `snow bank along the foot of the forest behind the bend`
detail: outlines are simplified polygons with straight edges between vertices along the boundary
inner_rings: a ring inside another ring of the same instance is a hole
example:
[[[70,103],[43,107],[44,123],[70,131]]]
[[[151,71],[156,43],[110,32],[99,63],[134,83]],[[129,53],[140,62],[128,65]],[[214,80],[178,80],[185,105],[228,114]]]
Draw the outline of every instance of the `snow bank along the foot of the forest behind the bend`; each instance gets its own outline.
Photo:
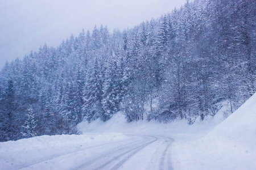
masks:
[[[177,120],[168,124],[160,124],[156,121],[147,122],[145,120],[128,123],[122,113],[117,113],[107,122],[100,120],[93,121],[90,124],[82,122],[78,128],[82,133],[115,132],[127,135],[162,135],[180,141],[184,138],[200,138],[223,120],[222,112],[218,112],[216,116],[209,116],[203,122],[197,120],[193,125],[188,125],[187,120]]]

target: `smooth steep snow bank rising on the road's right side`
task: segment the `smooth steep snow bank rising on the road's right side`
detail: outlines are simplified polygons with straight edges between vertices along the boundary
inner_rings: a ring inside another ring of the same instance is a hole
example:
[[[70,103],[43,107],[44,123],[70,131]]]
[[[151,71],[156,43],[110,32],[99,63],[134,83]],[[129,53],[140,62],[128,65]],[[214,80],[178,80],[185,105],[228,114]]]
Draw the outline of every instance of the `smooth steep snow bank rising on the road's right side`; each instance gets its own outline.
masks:
[[[255,169],[256,94],[203,138],[172,150],[174,169]]]

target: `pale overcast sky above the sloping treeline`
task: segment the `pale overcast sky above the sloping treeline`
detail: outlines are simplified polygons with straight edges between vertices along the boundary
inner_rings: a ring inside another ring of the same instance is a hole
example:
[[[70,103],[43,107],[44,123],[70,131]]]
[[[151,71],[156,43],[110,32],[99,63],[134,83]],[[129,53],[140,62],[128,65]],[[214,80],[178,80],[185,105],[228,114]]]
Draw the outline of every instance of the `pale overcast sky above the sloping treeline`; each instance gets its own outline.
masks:
[[[0,69],[40,45],[59,46],[82,28],[133,27],[179,8],[186,0],[0,0]]]

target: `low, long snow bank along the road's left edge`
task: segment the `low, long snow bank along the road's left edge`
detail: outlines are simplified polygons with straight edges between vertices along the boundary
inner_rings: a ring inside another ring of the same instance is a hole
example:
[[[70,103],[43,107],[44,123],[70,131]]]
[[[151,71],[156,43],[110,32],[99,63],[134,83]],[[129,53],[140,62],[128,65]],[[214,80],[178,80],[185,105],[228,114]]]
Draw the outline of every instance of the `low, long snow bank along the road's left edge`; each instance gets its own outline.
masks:
[[[0,142],[0,169],[19,169],[49,158],[76,152],[84,148],[128,139],[121,133],[83,135],[43,135]]]

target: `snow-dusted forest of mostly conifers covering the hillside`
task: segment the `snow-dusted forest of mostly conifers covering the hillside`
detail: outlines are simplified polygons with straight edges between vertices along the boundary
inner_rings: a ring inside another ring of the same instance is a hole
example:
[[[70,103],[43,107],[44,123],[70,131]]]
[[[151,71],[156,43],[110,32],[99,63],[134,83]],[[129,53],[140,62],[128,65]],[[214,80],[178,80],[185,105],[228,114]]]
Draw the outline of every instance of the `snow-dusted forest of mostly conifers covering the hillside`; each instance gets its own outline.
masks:
[[[86,23],[85,23],[86,24]],[[195,0],[123,31],[94,27],[0,72],[0,141],[81,121],[168,123],[234,112],[256,91],[256,1]]]

